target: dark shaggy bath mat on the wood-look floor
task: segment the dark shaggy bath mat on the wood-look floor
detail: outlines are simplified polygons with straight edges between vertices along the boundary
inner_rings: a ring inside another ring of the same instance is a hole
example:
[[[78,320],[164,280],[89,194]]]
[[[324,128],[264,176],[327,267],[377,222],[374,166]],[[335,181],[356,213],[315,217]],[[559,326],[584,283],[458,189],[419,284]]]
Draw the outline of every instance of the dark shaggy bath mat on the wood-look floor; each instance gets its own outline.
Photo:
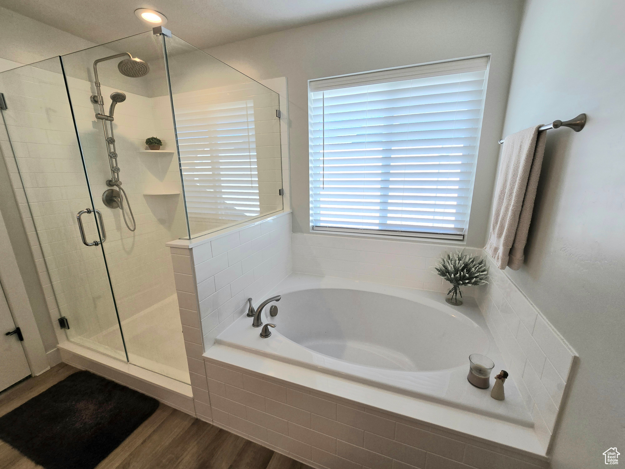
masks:
[[[0,439],[46,469],[93,469],[159,403],[78,371],[0,418]]]

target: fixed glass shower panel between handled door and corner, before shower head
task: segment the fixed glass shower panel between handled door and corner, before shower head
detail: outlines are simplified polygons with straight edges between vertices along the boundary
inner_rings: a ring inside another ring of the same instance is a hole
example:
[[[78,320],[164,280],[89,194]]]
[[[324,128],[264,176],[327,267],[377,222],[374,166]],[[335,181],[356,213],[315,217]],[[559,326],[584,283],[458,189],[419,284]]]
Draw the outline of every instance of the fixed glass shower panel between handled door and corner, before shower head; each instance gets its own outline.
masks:
[[[102,108],[92,100],[96,61]],[[162,40],[151,31],[137,34],[63,56],[63,64],[94,205],[103,214],[128,360],[189,383],[166,246],[189,231]],[[163,141],[160,151],[146,147],[152,136]]]

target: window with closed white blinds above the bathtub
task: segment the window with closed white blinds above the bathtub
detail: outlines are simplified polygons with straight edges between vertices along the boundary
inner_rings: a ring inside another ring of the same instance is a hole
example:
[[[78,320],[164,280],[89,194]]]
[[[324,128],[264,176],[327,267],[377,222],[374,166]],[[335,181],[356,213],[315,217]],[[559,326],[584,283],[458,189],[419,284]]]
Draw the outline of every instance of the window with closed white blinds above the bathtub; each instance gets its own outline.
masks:
[[[314,230],[463,239],[488,58],[309,81]]]

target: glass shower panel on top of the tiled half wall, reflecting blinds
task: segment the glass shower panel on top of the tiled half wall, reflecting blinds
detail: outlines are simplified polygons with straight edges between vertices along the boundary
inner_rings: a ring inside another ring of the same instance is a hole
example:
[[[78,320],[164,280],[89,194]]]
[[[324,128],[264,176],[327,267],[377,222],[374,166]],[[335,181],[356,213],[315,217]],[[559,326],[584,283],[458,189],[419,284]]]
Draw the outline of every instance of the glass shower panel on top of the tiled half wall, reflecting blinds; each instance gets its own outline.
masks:
[[[165,38],[191,237],[282,209],[279,95]]]

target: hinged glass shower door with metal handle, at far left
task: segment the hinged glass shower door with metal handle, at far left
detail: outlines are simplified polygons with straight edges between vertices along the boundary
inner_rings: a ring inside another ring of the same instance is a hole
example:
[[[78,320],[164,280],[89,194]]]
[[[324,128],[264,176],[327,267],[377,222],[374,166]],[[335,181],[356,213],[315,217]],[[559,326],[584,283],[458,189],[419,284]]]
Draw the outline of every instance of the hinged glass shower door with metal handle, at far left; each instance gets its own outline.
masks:
[[[51,314],[66,316],[69,340],[126,360],[102,247],[79,233],[90,209],[86,240],[101,239],[59,58],[0,73],[0,92],[0,148]]]

